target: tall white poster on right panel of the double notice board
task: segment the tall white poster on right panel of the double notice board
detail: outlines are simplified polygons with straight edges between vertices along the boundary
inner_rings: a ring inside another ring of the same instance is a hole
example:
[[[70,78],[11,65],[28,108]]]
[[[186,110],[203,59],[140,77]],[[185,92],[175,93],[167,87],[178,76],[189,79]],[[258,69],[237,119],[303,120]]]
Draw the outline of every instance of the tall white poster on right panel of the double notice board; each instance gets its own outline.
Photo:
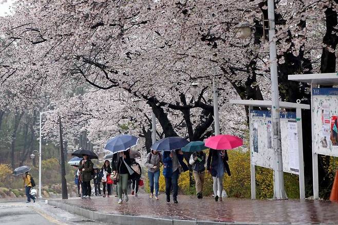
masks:
[[[289,167],[291,171],[299,173],[297,122],[294,120],[288,121],[288,140],[289,140]]]

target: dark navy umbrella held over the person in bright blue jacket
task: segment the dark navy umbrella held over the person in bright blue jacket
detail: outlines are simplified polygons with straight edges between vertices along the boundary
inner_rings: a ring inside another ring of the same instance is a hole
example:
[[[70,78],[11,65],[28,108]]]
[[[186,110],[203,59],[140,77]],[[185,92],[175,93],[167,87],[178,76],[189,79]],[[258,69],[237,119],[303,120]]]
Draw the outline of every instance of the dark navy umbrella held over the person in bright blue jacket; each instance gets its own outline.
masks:
[[[158,140],[151,148],[156,151],[172,151],[174,149],[182,148],[188,143],[189,141],[181,137],[168,137]]]

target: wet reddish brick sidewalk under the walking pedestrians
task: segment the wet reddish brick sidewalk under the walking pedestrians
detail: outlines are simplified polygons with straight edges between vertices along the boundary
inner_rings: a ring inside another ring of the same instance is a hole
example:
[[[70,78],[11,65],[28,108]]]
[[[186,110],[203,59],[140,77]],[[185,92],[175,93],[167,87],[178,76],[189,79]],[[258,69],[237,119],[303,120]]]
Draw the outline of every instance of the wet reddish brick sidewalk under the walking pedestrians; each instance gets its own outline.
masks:
[[[87,212],[97,212],[98,215],[241,224],[338,224],[338,203],[329,201],[226,198],[222,202],[215,202],[212,197],[197,199],[195,196],[178,196],[179,202],[175,204],[167,203],[165,195],[159,197],[160,200],[157,201],[154,198],[149,199],[145,194],[129,196],[129,201],[121,205],[117,204],[118,199],[114,196],[57,201],[65,203],[72,210],[82,208],[89,210]]]

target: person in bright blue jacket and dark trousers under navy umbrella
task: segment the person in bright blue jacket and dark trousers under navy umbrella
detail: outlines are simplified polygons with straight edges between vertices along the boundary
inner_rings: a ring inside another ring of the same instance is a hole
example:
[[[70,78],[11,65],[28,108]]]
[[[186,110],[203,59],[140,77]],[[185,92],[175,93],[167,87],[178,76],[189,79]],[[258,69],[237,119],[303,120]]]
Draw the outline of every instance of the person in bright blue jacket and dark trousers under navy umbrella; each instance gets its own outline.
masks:
[[[189,170],[189,167],[183,162],[183,152],[181,151],[181,149],[176,149],[175,151],[171,152],[164,152],[163,163],[166,201],[170,202],[170,192],[173,188],[173,201],[174,203],[178,203],[178,178],[180,170],[183,170],[183,172],[185,172]]]

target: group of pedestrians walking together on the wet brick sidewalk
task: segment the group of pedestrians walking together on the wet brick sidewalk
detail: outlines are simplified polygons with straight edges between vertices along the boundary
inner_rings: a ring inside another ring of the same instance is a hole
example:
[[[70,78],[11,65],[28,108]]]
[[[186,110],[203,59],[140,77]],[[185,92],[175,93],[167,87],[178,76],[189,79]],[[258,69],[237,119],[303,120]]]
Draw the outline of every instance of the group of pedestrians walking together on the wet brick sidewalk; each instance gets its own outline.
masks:
[[[146,156],[145,167],[147,168],[150,194],[149,198],[159,200],[159,178],[160,168],[163,166],[163,176],[165,178],[166,201],[178,203],[178,179],[182,172],[189,170],[189,166],[183,161],[183,152],[181,149],[174,151],[165,151],[163,156],[160,152],[152,150]],[[210,149],[208,159],[202,151],[193,153],[190,157],[189,164],[192,165],[193,174],[196,181],[197,198],[203,198],[203,184],[205,171],[209,171],[213,178],[213,191],[215,201],[222,201],[222,178],[224,173],[229,176],[230,168],[228,165],[227,151],[216,151]],[[110,197],[112,184],[117,185],[118,203],[128,201],[128,181],[132,181],[132,195],[137,196],[142,169],[135,159],[130,158],[129,149],[113,155],[111,164],[106,160],[101,168],[93,168],[93,163],[87,155],[83,156],[80,162],[77,176],[79,179],[79,195],[82,188],[82,198],[90,198],[91,186],[90,180],[93,180],[95,186],[95,195],[101,195],[101,182],[103,184],[103,197]],[[81,186],[81,187],[80,187]],[[155,193],[154,193],[155,192]]]

